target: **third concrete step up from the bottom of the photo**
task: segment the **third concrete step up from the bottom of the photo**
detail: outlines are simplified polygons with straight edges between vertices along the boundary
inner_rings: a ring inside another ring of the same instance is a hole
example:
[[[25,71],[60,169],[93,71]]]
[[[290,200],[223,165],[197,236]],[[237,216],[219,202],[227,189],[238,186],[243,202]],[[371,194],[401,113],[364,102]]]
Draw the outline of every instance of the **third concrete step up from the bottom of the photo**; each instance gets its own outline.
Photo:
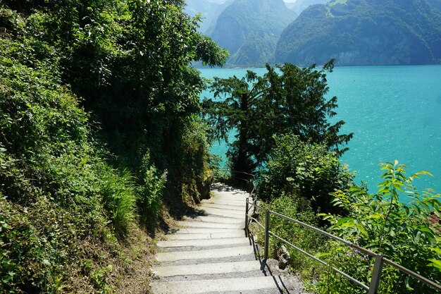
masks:
[[[230,247],[228,249],[222,248],[222,249],[179,251],[179,252],[160,252],[156,254],[156,260],[159,262],[171,262],[182,259],[235,257],[235,256],[250,255],[250,254],[254,254],[253,247],[247,245],[240,247]]]

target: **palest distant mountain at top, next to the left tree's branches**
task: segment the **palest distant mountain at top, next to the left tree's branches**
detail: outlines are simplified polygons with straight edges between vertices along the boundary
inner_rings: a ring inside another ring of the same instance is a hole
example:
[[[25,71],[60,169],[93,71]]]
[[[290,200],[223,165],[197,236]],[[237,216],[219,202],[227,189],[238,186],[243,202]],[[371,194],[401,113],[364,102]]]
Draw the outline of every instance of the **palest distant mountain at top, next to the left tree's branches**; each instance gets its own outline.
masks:
[[[209,34],[210,28],[216,24],[218,16],[223,9],[230,5],[233,0],[186,0],[184,11],[189,16],[202,15],[202,23],[199,30],[204,34]]]

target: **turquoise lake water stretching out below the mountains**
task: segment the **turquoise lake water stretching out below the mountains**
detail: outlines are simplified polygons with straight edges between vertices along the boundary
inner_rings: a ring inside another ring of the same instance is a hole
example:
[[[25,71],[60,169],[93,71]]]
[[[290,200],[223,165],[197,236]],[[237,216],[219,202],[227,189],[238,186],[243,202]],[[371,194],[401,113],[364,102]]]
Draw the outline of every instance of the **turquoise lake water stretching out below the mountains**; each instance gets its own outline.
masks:
[[[246,69],[204,68],[205,78],[242,77]],[[264,68],[254,68],[259,75]],[[406,164],[408,176],[430,171],[414,183],[441,192],[441,66],[336,67],[328,74],[328,97],[337,96],[334,120],[346,122],[342,133],[354,133],[342,161],[356,171],[372,192],[380,183],[378,164]],[[212,97],[204,92],[202,97]],[[225,158],[225,144],[212,152]]]

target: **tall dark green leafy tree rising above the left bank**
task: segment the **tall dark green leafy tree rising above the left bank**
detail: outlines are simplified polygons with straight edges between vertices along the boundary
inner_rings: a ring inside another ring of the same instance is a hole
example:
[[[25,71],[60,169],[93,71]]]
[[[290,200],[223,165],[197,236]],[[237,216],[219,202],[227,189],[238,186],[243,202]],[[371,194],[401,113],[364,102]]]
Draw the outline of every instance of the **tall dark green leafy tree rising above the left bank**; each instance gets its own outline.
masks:
[[[187,157],[182,137],[199,116],[204,80],[191,63],[222,66],[227,52],[197,31],[200,18],[182,12],[184,1],[6,3],[30,13],[23,34],[39,44],[32,52],[44,57],[45,47],[54,47],[61,82],[99,123],[97,137],[115,166],[137,172],[149,153],[152,164],[168,170],[168,185],[178,189],[192,178],[180,169]]]

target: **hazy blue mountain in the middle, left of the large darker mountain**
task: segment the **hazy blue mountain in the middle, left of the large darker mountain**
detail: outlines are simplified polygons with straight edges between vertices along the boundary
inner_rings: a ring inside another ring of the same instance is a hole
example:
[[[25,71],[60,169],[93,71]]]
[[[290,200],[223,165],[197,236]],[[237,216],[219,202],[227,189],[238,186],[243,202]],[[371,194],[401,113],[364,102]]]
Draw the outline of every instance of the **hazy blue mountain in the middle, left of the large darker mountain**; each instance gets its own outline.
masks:
[[[261,66],[295,18],[282,0],[235,0],[218,16],[209,36],[230,51],[230,66]]]

